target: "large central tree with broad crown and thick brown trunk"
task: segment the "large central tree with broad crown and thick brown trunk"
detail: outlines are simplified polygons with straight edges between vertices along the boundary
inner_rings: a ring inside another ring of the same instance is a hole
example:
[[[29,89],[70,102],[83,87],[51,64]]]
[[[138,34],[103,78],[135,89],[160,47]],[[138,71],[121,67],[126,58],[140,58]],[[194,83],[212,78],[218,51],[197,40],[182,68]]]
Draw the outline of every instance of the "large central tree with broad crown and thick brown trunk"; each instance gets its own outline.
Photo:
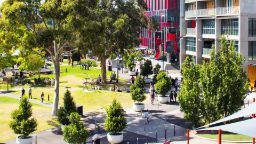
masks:
[[[106,59],[139,45],[139,31],[146,27],[143,0],[101,0],[92,11],[92,21],[78,33],[81,43],[98,56],[102,81],[106,82]]]

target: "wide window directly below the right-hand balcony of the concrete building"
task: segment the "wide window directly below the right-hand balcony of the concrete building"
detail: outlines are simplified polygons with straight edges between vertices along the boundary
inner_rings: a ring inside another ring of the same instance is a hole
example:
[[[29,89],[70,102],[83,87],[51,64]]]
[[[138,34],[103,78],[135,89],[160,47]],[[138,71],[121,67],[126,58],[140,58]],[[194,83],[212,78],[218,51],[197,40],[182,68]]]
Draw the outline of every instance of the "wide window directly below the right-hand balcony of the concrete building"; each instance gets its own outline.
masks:
[[[238,19],[221,20],[221,34],[238,35]]]

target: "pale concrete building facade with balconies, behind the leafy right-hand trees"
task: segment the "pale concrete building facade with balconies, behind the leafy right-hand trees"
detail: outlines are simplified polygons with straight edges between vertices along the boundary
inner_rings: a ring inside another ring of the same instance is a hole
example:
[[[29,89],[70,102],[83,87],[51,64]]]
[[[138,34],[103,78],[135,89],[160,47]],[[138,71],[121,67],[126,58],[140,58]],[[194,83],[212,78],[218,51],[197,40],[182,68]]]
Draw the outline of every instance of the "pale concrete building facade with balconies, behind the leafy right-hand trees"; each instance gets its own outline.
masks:
[[[235,43],[245,57],[244,69],[256,64],[256,0],[181,0],[180,63],[210,60],[221,36]],[[255,74],[256,75],[256,74]]]

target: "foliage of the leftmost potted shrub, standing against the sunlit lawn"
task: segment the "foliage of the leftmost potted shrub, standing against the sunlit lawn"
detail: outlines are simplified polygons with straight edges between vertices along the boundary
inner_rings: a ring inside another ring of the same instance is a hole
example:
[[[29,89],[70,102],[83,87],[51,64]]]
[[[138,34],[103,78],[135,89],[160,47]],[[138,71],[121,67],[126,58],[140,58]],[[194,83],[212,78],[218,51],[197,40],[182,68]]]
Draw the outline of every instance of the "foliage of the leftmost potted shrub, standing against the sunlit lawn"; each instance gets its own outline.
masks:
[[[20,138],[27,138],[29,134],[36,131],[37,122],[32,117],[32,105],[27,98],[22,98],[19,108],[11,114],[12,121],[10,127],[15,134],[20,134]]]

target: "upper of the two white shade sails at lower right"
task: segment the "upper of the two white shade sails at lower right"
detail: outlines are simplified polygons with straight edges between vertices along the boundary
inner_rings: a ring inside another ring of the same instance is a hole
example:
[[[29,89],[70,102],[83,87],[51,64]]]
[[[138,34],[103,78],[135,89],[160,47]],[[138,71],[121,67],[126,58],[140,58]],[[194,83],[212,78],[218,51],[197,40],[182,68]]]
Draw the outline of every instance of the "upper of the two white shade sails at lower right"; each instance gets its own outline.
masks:
[[[242,110],[240,110],[240,111],[238,111],[238,112],[236,112],[236,113],[234,113],[230,116],[227,116],[223,119],[220,119],[218,121],[210,123],[206,126],[200,127],[198,129],[201,129],[201,128],[204,128],[204,127],[209,127],[209,126],[214,125],[214,124],[230,121],[230,120],[241,118],[241,117],[247,117],[247,116],[250,116],[252,114],[256,114],[256,104],[251,104],[248,107],[246,107],[246,108],[244,108],[244,109],[242,109]],[[255,129],[255,132],[256,132],[256,129]]]

